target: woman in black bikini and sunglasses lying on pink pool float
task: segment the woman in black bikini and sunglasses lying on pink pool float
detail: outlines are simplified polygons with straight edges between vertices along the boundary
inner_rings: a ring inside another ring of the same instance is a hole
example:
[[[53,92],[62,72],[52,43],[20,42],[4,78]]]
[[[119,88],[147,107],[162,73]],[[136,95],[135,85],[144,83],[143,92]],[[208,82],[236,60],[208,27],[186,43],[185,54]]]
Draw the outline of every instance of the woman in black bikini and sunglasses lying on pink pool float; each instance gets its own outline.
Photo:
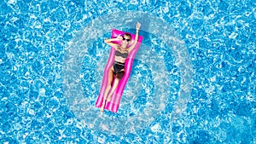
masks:
[[[131,35],[128,33],[125,33],[123,36],[118,36],[116,38],[111,39],[105,39],[104,42],[108,43],[111,47],[113,47],[115,51],[114,56],[114,62],[113,66],[109,69],[108,72],[108,86],[104,93],[104,100],[102,102],[101,112],[104,112],[104,107],[106,104],[106,101],[111,100],[111,95],[113,95],[114,90],[117,88],[119,81],[123,76],[125,75],[125,60],[130,54],[131,50],[135,48],[138,40],[138,32],[141,27],[141,24],[137,22],[137,31],[136,31],[136,37],[134,43],[131,44],[131,47],[127,47],[128,44],[131,43]],[[113,43],[113,41],[119,41],[121,40],[121,44]],[[113,81],[113,76],[116,76],[116,78]],[[113,87],[111,89],[111,85],[113,84]]]

